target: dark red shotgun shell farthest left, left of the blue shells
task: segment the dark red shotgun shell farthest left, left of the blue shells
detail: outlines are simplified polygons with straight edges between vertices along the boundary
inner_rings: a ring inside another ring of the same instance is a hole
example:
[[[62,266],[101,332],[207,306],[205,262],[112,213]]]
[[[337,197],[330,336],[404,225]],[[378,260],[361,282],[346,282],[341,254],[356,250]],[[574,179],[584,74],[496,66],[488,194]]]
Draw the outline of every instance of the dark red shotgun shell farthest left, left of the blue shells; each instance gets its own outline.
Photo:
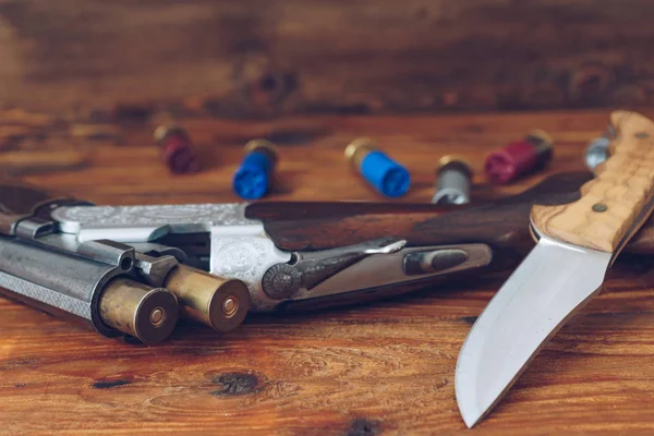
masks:
[[[155,141],[161,147],[161,160],[173,174],[190,174],[199,170],[199,159],[193,150],[191,138],[177,125],[159,125]]]

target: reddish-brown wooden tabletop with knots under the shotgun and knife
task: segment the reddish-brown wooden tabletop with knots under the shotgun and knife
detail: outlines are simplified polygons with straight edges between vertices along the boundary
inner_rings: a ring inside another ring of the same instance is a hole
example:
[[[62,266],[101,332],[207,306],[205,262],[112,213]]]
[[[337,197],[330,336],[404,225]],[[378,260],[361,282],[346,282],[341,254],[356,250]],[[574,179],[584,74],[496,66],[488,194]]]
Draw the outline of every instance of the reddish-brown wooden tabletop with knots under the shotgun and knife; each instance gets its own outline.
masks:
[[[651,113],[654,113],[652,111]],[[170,175],[152,126],[0,112],[2,170],[98,204],[234,202],[242,145],[281,147],[274,199],[379,199],[342,160],[349,141],[378,140],[411,171],[402,202],[428,202],[437,159],[476,170],[487,152],[533,128],[557,141],[547,173],[583,169],[607,111],[446,117],[181,120],[204,170]],[[99,132],[99,133],[98,133]],[[474,199],[514,193],[475,177]],[[471,434],[654,433],[654,261],[618,263],[607,292],[576,316]],[[455,399],[461,343],[502,279],[426,289],[314,314],[251,316],[218,335],[182,323],[156,347],[108,339],[0,300],[0,434],[467,433]]]

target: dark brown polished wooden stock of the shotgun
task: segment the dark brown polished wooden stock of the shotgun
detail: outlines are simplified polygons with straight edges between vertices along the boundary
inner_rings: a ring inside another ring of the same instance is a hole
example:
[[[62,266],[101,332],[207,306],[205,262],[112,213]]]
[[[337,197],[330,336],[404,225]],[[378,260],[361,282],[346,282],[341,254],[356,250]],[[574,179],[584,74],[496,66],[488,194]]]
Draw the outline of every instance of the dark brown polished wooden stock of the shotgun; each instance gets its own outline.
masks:
[[[246,209],[261,219],[282,250],[314,251],[398,237],[409,246],[486,243],[506,255],[533,247],[529,215],[533,205],[559,205],[579,198],[591,173],[552,175],[525,192],[476,205],[384,203],[261,202]],[[626,251],[654,254],[654,223],[649,221]]]

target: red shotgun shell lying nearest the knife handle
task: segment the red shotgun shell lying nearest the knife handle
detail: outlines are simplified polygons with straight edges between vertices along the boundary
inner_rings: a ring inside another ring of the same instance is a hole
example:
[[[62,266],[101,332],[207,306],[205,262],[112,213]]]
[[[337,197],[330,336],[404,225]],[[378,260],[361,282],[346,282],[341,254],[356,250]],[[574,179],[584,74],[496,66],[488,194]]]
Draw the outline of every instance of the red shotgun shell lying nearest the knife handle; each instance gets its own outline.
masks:
[[[552,160],[552,137],[543,131],[533,131],[524,140],[491,153],[484,172],[494,183],[509,183],[521,175],[542,170]]]

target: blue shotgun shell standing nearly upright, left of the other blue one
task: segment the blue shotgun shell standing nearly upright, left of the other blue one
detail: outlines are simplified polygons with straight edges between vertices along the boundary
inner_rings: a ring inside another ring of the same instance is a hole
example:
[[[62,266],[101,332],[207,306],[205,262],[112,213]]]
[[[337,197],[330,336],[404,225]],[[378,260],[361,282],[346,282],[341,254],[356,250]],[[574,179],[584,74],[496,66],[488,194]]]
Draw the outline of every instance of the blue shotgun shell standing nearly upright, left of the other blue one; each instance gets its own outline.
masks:
[[[277,147],[266,140],[254,140],[245,144],[245,158],[234,172],[233,190],[245,199],[261,198],[272,183],[277,165]]]

